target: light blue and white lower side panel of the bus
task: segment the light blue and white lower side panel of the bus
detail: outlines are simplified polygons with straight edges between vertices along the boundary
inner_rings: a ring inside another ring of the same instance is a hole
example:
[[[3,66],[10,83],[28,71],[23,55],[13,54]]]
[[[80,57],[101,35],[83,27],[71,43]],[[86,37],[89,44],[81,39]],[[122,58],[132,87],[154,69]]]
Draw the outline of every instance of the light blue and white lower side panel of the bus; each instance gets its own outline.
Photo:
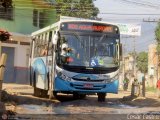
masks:
[[[32,70],[33,75],[35,74],[35,86],[37,88],[48,90],[48,78],[47,78],[47,68],[46,61],[43,58],[37,58],[33,62]],[[33,80],[34,80],[33,79]]]

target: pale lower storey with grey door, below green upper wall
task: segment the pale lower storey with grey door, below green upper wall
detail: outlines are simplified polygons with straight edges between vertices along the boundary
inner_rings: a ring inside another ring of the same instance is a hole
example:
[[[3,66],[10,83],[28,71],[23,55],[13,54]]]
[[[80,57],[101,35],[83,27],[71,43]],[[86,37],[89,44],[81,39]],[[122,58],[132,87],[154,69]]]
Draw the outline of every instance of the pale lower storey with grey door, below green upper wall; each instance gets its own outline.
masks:
[[[14,34],[13,40],[2,42],[2,53],[7,54],[4,82],[28,83],[30,37]]]

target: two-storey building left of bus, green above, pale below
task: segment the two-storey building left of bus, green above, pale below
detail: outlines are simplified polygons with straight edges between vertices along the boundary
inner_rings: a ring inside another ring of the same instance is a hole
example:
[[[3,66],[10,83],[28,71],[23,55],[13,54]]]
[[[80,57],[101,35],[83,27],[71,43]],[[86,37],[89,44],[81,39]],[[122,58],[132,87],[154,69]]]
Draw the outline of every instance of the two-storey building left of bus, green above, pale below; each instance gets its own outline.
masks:
[[[29,83],[30,34],[56,21],[53,3],[53,0],[0,1],[0,28],[12,34],[10,41],[0,44],[8,56],[4,82]]]

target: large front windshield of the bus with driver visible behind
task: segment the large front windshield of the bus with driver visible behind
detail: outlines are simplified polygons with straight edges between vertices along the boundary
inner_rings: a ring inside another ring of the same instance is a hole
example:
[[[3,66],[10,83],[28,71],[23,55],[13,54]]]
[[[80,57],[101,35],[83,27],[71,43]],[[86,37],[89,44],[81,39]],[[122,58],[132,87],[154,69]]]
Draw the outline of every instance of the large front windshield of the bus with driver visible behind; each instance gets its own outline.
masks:
[[[61,33],[58,42],[59,65],[91,68],[118,66],[117,38],[107,34]]]

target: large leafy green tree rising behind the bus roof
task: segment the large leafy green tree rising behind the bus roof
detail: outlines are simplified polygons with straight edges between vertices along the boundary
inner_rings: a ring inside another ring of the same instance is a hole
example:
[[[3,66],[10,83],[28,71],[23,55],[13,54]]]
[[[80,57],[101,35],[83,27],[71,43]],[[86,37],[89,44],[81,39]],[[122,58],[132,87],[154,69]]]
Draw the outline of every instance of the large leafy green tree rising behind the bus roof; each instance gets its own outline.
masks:
[[[99,13],[92,0],[56,0],[55,8],[58,16],[97,18]]]

